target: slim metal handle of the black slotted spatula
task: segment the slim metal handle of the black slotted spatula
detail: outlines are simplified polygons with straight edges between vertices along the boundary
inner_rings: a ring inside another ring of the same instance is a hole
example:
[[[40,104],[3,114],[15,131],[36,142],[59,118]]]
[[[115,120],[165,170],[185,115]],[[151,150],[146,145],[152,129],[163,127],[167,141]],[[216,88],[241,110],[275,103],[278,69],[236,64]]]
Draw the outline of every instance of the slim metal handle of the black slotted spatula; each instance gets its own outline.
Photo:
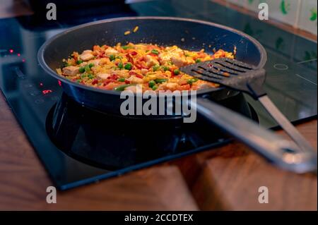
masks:
[[[309,142],[299,133],[299,131],[293,126],[288,118],[286,118],[281,111],[276,107],[271,99],[267,95],[259,97],[259,102],[263,105],[266,111],[271,114],[273,119],[285,130],[286,133],[292,138],[296,144],[300,147],[300,150],[305,151],[314,151],[314,148],[310,145]]]

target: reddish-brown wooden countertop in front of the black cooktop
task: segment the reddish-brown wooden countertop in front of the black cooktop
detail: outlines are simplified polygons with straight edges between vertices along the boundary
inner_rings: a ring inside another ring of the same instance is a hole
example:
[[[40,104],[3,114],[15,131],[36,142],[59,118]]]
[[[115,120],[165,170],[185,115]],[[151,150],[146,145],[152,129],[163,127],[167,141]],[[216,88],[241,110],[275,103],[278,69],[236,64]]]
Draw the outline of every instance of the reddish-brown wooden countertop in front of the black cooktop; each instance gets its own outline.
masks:
[[[317,120],[298,126],[317,148]],[[0,210],[317,210],[317,176],[292,174],[233,142],[117,178],[57,193],[0,95]],[[259,204],[258,188],[269,188]]]

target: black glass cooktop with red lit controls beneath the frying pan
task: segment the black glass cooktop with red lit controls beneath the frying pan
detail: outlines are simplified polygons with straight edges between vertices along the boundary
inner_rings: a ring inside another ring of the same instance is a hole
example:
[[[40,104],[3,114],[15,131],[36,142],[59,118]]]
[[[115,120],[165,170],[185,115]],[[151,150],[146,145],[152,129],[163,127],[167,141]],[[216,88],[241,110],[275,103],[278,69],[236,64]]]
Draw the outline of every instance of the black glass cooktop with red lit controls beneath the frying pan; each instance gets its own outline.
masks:
[[[76,11],[72,13],[78,15]],[[57,21],[42,20],[38,14],[1,19],[1,91],[59,189],[118,176],[230,142],[203,118],[192,124],[179,120],[148,123],[86,109],[69,99],[57,80],[45,75],[37,62],[37,51],[46,39],[73,25],[119,16],[196,18],[247,32],[268,53],[264,87],[273,102],[293,122],[317,116],[317,43],[211,1],[117,4],[99,7],[98,11],[81,11],[80,18],[61,13]],[[277,126],[261,105],[248,96],[237,95],[220,104],[266,128]],[[136,126],[151,132],[129,130]]]

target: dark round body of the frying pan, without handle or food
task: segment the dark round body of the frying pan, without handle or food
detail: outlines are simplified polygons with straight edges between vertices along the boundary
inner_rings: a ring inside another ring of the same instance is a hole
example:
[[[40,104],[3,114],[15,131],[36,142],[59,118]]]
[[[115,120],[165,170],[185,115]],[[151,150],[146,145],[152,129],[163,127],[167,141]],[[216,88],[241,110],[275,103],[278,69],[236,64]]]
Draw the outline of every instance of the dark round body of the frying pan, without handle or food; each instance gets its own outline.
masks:
[[[132,30],[136,26],[139,26],[137,32],[124,35],[126,30]],[[182,49],[199,51],[204,48],[210,53],[213,49],[234,51],[236,48],[237,60],[258,67],[264,66],[266,62],[266,51],[261,44],[242,32],[201,20],[164,17],[116,18],[79,25],[45,42],[40,48],[38,59],[49,75],[61,80],[66,94],[76,102],[102,111],[119,113],[122,103],[119,92],[73,83],[57,75],[55,71],[61,67],[62,59],[73,51],[91,49],[95,44],[112,46],[118,42],[165,46],[176,44]],[[212,95],[213,99],[219,100],[237,95],[237,92],[222,87],[200,90],[197,94]]]

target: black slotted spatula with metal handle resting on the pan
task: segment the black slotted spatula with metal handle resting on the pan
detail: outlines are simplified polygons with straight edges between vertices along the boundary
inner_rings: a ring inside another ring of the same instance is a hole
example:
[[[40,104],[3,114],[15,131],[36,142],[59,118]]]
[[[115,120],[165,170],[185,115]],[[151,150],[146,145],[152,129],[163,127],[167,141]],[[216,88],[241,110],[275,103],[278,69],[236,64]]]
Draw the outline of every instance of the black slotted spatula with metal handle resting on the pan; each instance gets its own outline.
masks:
[[[266,95],[262,85],[265,80],[264,68],[255,68],[252,65],[235,59],[221,58],[204,61],[180,68],[180,71],[201,80],[218,83],[234,90],[239,90],[259,100],[266,111],[285,130],[303,152],[314,151],[290,121],[279,111]]]

